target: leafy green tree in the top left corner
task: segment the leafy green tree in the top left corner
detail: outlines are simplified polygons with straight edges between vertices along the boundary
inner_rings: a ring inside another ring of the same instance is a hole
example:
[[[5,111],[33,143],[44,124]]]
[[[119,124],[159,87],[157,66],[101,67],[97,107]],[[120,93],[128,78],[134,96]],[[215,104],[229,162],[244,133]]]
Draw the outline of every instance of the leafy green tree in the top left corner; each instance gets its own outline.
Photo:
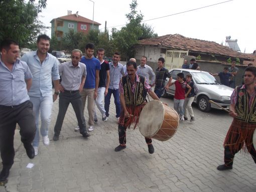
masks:
[[[46,8],[46,0],[9,0],[0,2],[0,41],[11,38],[20,46],[35,42],[46,29],[39,21],[39,13]]]

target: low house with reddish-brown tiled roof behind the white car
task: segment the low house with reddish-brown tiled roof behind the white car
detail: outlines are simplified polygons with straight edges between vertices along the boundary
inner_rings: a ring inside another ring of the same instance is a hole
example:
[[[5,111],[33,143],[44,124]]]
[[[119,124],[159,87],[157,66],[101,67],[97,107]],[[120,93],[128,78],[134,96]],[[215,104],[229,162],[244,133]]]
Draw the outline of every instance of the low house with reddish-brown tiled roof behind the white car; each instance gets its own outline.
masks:
[[[254,62],[255,59],[253,54],[240,53],[212,41],[187,38],[179,34],[139,41],[136,45],[136,59],[142,56],[148,57],[148,61],[153,63],[157,63],[159,57],[164,57],[168,69],[181,68],[186,56],[200,56],[203,61],[223,63],[227,62],[228,58],[239,58],[241,65],[243,62]]]

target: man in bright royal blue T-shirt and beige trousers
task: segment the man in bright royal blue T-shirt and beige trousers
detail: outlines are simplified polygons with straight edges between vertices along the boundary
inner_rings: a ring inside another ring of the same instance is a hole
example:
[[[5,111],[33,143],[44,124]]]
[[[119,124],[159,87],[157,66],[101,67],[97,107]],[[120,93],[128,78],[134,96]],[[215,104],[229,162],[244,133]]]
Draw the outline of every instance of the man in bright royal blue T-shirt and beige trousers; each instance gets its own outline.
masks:
[[[86,56],[82,57],[80,60],[81,63],[84,63],[86,66],[87,76],[84,83],[84,89],[80,93],[82,97],[82,107],[83,112],[85,108],[86,97],[88,97],[87,109],[89,114],[89,128],[88,131],[94,129],[94,105],[95,99],[97,98],[97,91],[99,86],[99,70],[100,62],[93,56],[94,45],[88,43],[85,46]],[[79,130],[79,127],[75,128],[75,131]]]

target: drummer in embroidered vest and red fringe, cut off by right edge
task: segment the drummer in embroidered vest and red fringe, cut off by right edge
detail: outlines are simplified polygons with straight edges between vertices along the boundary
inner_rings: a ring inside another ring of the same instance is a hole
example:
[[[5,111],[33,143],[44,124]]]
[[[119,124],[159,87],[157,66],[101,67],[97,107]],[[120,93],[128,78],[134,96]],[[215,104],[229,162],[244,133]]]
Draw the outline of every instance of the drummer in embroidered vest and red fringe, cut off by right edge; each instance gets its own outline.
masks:
[[[252,144],[256,128],[256,68],[247,67],[243,79],[244,85],[237,86],[231,95],[229,115],[234,119],[224,141],[225,164],[219,165],[218,170],[232,169],[234,155],[241,148],[249,152],[256,163],[256,151]]]

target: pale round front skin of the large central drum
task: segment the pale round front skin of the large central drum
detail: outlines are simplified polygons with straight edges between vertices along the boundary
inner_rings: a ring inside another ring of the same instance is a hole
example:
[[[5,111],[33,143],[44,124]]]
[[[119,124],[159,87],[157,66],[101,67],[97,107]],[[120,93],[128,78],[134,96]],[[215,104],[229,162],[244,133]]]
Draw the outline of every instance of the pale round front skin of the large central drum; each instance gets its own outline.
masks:
[[[164,106],[161,101],[153,100],[142,109],[139,119],[139,129],[143,136],[152,137],[161,128],[164,120]]]

